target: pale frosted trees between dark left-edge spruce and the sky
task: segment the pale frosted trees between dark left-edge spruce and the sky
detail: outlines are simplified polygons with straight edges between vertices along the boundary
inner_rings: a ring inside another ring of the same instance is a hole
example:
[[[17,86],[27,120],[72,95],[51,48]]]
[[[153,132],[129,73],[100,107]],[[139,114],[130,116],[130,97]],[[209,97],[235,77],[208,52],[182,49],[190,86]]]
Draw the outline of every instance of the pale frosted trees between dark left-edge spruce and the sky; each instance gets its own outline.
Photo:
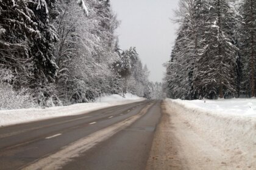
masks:
[[[119,89],[118,75],[112,69],[118,60],[114,30],[119,21],[107,1],[83,4],[88,7],[85,13],[76,1],[60,2],[60,16],[54,22],[59,34],[56,84],[65,104],[91,101]]]

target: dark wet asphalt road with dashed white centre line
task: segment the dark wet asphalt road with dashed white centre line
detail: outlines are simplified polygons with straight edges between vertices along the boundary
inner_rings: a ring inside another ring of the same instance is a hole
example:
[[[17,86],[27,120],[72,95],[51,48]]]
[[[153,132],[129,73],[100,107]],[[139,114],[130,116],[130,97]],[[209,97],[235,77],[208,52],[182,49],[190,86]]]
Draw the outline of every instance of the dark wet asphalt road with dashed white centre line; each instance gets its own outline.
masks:
[[[0,128],[0,169],[145,169],[162,101]]]

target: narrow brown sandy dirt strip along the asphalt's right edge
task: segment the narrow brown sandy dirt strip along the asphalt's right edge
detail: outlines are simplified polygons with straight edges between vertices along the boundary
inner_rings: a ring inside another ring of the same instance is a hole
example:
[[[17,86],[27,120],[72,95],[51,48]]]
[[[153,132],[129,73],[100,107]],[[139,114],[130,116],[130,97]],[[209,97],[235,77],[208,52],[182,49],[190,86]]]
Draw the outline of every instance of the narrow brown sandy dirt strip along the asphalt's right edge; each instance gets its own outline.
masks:
[[[162,102],[161,108],[162,118],[155,131],[146,169],[183,169],[182,161],[176,148],[179,141],[173,133],[175,127],[166,111],[165,102]]]

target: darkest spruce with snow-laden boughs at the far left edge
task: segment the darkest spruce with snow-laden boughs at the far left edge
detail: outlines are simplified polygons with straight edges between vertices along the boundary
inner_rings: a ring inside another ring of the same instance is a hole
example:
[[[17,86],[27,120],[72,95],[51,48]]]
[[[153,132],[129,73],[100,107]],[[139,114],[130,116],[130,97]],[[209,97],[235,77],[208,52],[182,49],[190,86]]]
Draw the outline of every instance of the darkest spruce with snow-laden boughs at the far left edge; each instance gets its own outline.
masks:
[[[12,68],[15,88],[29,87],[41,105],[48,105],[54,95],[57,66],[53,43],[57,34],[49,24],[54,4],[54,0],[0,3],[1,63]]]

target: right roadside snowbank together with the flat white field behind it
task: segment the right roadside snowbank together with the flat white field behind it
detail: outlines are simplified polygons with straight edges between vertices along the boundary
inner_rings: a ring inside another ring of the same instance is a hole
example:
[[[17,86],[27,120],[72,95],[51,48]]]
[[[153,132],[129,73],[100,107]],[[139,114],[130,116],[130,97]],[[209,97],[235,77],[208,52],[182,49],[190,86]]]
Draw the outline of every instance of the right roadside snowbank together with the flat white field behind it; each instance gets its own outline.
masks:
[[[166,103],[194,133],[229,155],[226,166],[256,169],[256,99]]]

